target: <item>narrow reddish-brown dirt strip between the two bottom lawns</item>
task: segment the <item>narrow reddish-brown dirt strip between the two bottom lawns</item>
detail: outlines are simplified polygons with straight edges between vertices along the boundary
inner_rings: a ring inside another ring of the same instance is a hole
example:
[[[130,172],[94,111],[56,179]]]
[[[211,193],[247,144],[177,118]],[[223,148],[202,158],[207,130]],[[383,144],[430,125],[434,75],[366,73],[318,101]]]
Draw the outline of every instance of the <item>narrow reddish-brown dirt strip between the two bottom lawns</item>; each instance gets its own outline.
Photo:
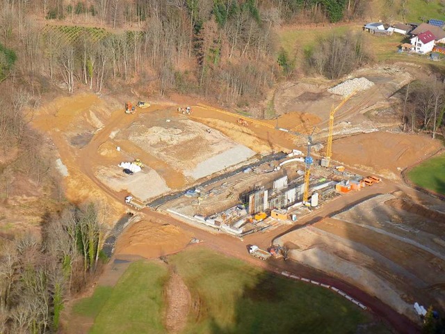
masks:
[[[177,273],[172,273],[165,289],[167,310],[165,327],[168,333],[179,333],[187,322],[191,296],[184,281]]]

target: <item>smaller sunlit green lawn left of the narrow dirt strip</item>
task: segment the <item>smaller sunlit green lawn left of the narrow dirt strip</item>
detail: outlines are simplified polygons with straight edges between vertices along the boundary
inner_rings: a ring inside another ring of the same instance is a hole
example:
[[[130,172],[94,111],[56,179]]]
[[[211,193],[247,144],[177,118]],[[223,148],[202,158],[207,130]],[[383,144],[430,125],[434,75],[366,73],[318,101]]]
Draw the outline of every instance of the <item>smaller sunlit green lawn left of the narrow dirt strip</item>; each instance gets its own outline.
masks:
[[[167,278],[166,267],[134,262],[115,287],[97,287],[92,297],[74,305],[74,312],[95,318],[90,333],[165,333],[163,286]]]

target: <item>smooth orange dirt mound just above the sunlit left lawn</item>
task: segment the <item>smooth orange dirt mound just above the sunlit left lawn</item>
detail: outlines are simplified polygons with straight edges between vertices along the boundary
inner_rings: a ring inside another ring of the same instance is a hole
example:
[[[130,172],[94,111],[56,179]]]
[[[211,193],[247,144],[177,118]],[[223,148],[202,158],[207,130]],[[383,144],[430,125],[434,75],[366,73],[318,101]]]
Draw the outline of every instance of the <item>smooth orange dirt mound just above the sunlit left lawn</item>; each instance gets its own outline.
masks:
[[[170,224],[139,221],[131,225],[118,240],[115,253],[146,258],[176,253],[188,245],[191,234]]]

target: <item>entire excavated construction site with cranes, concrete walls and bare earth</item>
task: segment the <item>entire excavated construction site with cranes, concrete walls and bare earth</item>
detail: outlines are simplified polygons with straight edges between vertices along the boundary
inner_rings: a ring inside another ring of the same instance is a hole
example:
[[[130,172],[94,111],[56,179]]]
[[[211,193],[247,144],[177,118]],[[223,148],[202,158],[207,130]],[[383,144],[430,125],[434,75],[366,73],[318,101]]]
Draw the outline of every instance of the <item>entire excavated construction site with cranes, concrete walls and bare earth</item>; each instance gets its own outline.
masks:
[[[442,144],[401,132],[397,92],[411,80],[402,66],[354,76],[284,84],[268,120],[80,95],[43,106],[33,125],[58,149],[68,198],[102,202],[110,225],[138,216],[117,253],[160,256],[191,237],[239,257],[240,240],[279,245],[418,321],[415,301],[445,308],[445,205],[401,172]]]

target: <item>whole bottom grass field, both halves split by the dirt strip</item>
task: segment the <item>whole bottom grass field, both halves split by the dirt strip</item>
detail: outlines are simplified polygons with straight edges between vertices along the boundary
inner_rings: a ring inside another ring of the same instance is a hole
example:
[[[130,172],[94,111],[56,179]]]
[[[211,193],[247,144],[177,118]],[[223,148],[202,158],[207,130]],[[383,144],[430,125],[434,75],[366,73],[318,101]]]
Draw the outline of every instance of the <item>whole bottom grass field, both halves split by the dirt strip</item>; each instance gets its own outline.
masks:
[[[169,258],[191,291],[182,333],[389,333],[356,305],[330,290],[289,280],[210,250],[193,248]],[[74,305],[95,319],[90,333],[166,333],[163,288],[168,267],[135,262],[115,287],[97,287]]]

